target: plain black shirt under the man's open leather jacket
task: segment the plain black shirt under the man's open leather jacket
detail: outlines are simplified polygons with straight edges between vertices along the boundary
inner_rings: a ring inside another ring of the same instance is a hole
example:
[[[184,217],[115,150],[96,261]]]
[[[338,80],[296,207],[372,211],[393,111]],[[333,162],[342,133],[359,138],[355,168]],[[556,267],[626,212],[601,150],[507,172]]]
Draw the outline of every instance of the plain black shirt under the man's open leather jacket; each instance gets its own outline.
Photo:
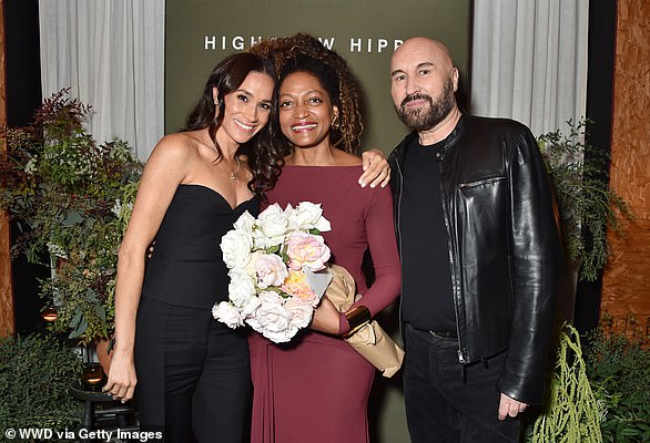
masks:
[[[443,143],[418,138],[406,148],[402,195],[402,315],[414,328],[456,331],[449,246],[443,215],[439,161]]]

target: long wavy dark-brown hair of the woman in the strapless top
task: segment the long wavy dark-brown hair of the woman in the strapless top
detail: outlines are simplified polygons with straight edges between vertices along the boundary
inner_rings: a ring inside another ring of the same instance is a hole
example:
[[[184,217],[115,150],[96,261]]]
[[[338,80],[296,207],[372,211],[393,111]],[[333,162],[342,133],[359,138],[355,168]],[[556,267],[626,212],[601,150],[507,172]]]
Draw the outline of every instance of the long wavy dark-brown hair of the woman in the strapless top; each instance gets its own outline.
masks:
[[[247,52],[228,55],[214,66],[207,78],[203,94],[190,115],[187,115],[185,127],[182,131],[207,128],[210,138],[217,152],[215,162],[223,156],[223,152],[216,142],[216,130],[221,126],[226,111],[224,96],[236,91],[251,72],[268,74],[274,84],[277,81],[271,60]],[[213,87],[219,91],[217,104],[214,103],[212,95]],[[217,105],[219,114],[216,113]],[[268,119],[270,123],[277,120],[276,113],[276,106],[274,105]],[[253,174],[253,178],[248,182],[248,188],[257,196],[264,195],[266,190],[272,188],[280,175],[282,153],[277,151],[277,144],[273,143],[277,137],[273,134],[274,128],[271,126],[271,124],[267,124],[263,127],[253,138],[242,144],[236,153],[236,155],[244,155],[247,158],[248,168]]]

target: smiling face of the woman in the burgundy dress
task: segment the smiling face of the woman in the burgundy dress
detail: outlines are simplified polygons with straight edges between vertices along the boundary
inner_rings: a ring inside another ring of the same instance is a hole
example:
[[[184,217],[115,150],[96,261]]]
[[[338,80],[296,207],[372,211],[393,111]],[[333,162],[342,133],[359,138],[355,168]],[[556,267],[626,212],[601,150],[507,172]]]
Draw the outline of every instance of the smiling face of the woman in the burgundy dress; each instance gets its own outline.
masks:
[[[316,76],[294,72],[280,86],[280,127],[296,147],[329,146],[329,128],[334,114],[329,95]]]

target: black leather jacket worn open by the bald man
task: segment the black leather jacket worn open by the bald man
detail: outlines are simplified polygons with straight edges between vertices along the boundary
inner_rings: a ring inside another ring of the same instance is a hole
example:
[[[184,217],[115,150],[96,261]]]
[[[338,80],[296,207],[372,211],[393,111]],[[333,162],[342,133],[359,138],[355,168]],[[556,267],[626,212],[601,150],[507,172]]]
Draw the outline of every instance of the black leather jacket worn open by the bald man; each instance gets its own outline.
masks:
[[[415,136],[389,156],[400,253],[402,238],[417,235],[400,230],[404,155]],[[464,114],[438,164],[460,363],[507,349],[497,389],[541,403],[562,253],[536,140],[515,121]]]

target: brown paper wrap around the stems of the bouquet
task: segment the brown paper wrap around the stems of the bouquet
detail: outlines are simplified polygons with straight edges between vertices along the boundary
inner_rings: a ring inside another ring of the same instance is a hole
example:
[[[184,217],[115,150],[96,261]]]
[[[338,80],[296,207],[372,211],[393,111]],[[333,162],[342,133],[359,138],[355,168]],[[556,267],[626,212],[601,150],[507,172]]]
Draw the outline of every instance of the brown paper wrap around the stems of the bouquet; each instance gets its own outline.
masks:
[[[325,295],[339,312],[345,312],[355,302],[355,299],[358,299],[354,278],[341,266],[329,265],[329,271],[333,277]],[[393,377],[402,368],[404,351],[376,320],[372,320],[344,340],[382,371],[384,377]]]

